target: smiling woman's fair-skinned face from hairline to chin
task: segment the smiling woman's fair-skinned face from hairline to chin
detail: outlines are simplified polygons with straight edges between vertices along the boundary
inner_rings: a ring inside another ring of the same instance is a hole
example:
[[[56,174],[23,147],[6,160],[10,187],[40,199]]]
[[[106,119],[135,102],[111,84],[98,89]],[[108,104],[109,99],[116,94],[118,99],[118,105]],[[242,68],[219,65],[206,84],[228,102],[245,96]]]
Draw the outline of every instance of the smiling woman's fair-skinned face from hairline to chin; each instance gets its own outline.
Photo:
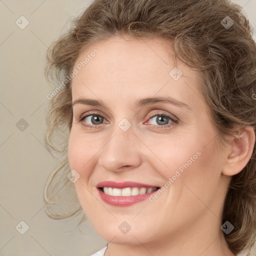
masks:
[[[74,66],[69,163],[84,213],[106,241],[170,244],[221,231],[225,152],[198,73],[178,61],[181,75],[167,49],[159,38],[111,37]]]

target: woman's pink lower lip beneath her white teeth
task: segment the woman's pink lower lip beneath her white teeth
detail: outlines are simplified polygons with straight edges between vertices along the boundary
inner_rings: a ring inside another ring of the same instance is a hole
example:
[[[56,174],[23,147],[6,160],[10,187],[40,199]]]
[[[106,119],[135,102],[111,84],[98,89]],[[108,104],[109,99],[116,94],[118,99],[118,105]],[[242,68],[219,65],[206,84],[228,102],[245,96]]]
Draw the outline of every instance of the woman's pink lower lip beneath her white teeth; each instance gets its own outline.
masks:
[[[100,195],[101,199],[104,202],[106,202],[110,205],[120,206],[120,207],[130,206],[130,205],[133,205],[136,202],[144,201],[149,196],[151,196],[154,192],[157,191],[157,190],[154,190],[151,193],[130,195],[130,196],[113,196],[113,195],[108,195],[108,194],[104,193],[99,188],[97,188],[97,189],[98,189],[98,192],[99,192],[99,195]]]

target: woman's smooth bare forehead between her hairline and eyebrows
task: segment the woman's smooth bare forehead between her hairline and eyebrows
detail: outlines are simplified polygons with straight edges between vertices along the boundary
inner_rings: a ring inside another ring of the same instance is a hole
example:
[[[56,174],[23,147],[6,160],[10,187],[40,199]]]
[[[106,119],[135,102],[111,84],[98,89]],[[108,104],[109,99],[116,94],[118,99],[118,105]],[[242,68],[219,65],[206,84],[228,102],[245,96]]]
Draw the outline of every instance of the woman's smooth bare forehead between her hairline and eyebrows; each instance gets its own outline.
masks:
[[[75,62],[77,74],[72,80],[72,96],[95,97],[96,92],[96,96],[103,98],[125,96],[131,100],[157,93],[175,95],[191,103],[198,101],[198,97],[202,98],[198,73],[178,58],[175,63],[173,57],[170,43],[161,38],[115,36],[97,41],[81,51]]]

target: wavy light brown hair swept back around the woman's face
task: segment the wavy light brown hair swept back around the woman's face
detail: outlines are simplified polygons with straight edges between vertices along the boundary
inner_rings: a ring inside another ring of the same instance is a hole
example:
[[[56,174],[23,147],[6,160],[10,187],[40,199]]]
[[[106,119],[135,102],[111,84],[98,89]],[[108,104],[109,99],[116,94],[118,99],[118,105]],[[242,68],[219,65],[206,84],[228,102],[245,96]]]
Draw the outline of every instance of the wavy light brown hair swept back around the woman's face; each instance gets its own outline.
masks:
[[[233,21],[228,21],[230,27],[222,25],[226,18]],[[164,38],[175,56],[198,71],[199,89],[222,142],[224,135],[237,137],[242,127],[256,130],[256,45],[241,6],[229,0],[95,0],[47,50],[47,79],[55,84],[65,81],[50,100],[46,117],[45,145],[64,159],[45,184],[47,204],[54,204],[51,199],[59,184],[68,183],[74,190],[66,178],[70,171],[67,138],[72,126],[72,80],[65,77],[84,48],[116,35]],[[57,136],[63,140],[53,142]],[[228,220],[234,226],[232,232],[224,234],[225,240],[235,254],[250,249],[256,236],[255,151],[254,144],[246,166],[232,176],[223,204],[222,223]],[[77,198],[76,203],[68,214],[46,212],[56,219],[73,216],[82,211]]]

